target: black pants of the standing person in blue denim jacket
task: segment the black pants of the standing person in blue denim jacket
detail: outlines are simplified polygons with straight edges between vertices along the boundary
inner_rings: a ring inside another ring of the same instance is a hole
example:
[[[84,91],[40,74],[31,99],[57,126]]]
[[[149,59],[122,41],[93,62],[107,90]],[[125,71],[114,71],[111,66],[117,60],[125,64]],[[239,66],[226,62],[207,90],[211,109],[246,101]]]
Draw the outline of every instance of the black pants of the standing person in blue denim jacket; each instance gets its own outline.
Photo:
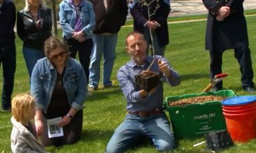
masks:
[[[90,56],[91,50],[93,46],[92,39],[86,39],[83,42],[79,42],[76,39],[70,38],[66,39],[64,37],[64,43],[68,44],[70,50],[70,57],[76,58],[77,51],[79,52],[79,61],[85,71],[85,75],[87,78],[87,84],[89,82],[89,63],[90,63]]]

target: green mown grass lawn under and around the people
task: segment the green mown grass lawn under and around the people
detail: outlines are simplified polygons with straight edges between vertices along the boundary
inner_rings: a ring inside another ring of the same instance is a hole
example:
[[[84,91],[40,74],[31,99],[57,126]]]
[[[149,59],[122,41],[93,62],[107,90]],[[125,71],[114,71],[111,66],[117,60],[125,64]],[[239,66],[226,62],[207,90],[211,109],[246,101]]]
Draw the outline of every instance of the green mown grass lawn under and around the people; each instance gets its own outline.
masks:
[[[246,19],[251,44],[253,69],[255,70],[256,16],[248,16]],[[182,83],[176,87],[170,87],[165,84],[165,97],[199,93],[210,83],[208,74],[209,52],[204,49],[205,23],[205,21],[197,21],[169,24],[170,44],[166,48],[165,56],[171,65],[180,73]],[[130,31],[132,31],[132,27],[123,27],[119,32],[116,48],[117,58],[112,75],[113,83],[116,86],[118,84],[116,79],[117,70],[130,60],[130,56],[126,54],[124,48],[126,33]],[[59,31],[59,35],[60,33]],[[16,48],[17,68],[13,95],[29,91],[29,77],[21,51],[22,43],[18,38],[16,38]],[[229,73],[229,76],[224,80],[223,87],[235,91],[237,95],[246,95],[240,83],[239,65],[231,50],[223,54],[223,72]],[[1,70],[0,75],[1,90],[3,82]],[[85,105],[81,141],[59,148],[48,147],[46,148],[48,152],[104,152],[113,131],[124,120],[124,116],[126,115],[126,99],[119,87],[100,89],[93,92],[91,97],[87,97]],[[10,113],[0,112],[0,152],[2,153],[11,152],[10,133],[12,124],[10,118]],[[205,145],[198,146],[197,148],[193,147],[193,144],[203,140],[203,137],[197,139],[180,139],[177,141],[177,149],[174,152],[208,152],[205,150]],[[256,140],[247,143],[236,143],[236,146],[223,152],[256,152],[255,143]],[[154,146],[145,143],[138,148],[128,150],[128,152],[152,153],[156,152],[156,150]]]

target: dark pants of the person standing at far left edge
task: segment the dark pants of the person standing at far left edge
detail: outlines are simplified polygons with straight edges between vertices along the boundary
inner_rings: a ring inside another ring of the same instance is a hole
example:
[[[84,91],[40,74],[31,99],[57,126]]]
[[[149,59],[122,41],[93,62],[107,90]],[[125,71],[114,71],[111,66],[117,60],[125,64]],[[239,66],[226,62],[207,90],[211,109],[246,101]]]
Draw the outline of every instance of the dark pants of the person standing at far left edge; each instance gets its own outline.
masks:
[[[0,63],[3,67],[2,109],[11,107],[12,90],[14,88],[14,73],[16,70],[15,42],[9,46],[0,46]]]

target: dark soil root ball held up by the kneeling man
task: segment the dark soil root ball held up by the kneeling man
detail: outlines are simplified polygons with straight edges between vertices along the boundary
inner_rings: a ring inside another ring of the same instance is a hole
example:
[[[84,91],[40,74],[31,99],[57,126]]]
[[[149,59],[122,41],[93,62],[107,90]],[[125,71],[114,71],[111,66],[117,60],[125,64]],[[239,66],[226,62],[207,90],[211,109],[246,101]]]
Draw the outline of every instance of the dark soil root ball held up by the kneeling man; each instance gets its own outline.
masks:
[[[158,86],[160,76],[154,71],[143,71],[135,76],[135,82],[140,90],[144,89],[145,91],[150,92],[150,90]]]

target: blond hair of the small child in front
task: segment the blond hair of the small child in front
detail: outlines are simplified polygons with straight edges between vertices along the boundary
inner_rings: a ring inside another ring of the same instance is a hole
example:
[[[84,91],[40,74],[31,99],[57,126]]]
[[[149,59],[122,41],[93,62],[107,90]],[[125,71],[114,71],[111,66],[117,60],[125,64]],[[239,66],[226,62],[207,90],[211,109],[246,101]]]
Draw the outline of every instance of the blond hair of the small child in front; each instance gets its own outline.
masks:
[[[19,94],[12,99],[12,116],[18,122],[27,121],[27,115],[29,109],[35,107],[35,100],[31,95],[28,94]]]

